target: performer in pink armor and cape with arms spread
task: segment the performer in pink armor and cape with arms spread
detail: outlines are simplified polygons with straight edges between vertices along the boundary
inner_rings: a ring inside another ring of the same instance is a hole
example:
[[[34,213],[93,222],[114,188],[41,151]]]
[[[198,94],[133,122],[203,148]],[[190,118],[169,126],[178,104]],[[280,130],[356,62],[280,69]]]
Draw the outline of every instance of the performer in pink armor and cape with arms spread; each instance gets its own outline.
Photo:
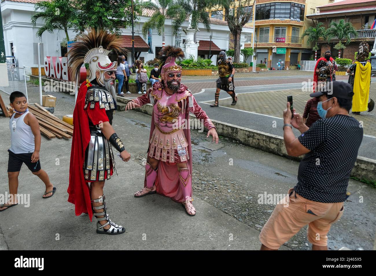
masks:
[[[145,95],[129,101],[126,107],[127,110],[147,103],[153,105],[144,189],[135,197],[158,193],[182,203],[186,213],[194,216],[189,112],[208,128],[207,137],[211,135],[213,142],[218,143],[218,135],[190,90],[180,83],[182,67],[175,59],[184,57],[182,49],[169,45],[159,55],[162,81],[154,83]]]

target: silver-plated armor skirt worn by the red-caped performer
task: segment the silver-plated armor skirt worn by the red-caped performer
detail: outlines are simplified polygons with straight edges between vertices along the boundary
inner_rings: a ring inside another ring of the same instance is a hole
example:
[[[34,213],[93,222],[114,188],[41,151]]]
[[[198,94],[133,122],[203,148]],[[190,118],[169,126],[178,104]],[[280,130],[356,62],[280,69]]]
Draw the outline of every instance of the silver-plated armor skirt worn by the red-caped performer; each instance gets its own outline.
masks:
[[[97,127],[90,127],[90,142],[85,151],[83,173],[89,182],[111,178],[111,169],[116,172],[112,146]]]

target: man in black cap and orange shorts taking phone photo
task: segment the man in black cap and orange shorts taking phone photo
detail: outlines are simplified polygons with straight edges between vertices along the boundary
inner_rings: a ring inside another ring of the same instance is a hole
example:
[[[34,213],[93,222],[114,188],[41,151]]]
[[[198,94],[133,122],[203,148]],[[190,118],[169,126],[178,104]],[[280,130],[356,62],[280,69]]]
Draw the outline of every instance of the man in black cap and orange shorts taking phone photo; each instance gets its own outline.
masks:
[[[291,119],[290,103],[287,103],[283,126],[287,154],[305,154],[305,157],[300,161],[298,183],[288,191],[288,199],[284,199],[289,204],[277,204],[261,230],[261,250],[279,249],[307,224],[312,250],[327,250],[327,233],[343,214],[363,128],[349,116],[352,86],[342,81],[324,85],[326,87],[310,95],[318,97],[317,112],[322,118],[310,128],[303,124],[302,116],[295,110]],[[296,138],[292,127],[302,135]]]

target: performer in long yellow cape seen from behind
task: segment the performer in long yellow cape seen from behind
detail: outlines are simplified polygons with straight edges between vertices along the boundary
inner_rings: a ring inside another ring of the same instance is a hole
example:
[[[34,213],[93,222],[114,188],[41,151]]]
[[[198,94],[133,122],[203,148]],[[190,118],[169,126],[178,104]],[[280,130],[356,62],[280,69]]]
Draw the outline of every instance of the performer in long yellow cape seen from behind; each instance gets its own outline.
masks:
[[[374,101],[369,99],[372,69],[371,63],[367,62],[370,53],[369,49],[368,43],[361,42],[356,55],[356,62],[347,69],[347,72],[350,73],[350,78],[353,76],[353,81],[350,83],[354,92],[351,113],[355,115],[360,115],[360,112],[367,109],[368,112],[371,112],[374,108]],[[369,103],[368,100],[370,101]]]

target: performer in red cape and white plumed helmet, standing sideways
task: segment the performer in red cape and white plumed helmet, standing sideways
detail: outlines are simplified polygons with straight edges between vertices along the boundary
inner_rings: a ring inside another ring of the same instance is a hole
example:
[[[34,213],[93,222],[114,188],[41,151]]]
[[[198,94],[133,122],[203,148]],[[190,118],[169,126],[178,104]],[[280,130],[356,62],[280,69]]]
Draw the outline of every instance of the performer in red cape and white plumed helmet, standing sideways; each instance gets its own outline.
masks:
[[[73,112],[73,139],[69,169],[68,202],[75,205],[76,216],[82,213],[97,218],[97,233],[116,235],[125,228],[111,222],[103,187],[105,180],[116,172],[112,146],[120,152],[123,161],[129,153],[112,128],[115,110],[115,71],[111,50],[120,51],[121,39],[103,30],[92,29],[77,36],[69,51],[69,62],[75,76],[83,63],[89,64],[90,75],[77,95]],[[111,146],[112,145],[112,146]]]

